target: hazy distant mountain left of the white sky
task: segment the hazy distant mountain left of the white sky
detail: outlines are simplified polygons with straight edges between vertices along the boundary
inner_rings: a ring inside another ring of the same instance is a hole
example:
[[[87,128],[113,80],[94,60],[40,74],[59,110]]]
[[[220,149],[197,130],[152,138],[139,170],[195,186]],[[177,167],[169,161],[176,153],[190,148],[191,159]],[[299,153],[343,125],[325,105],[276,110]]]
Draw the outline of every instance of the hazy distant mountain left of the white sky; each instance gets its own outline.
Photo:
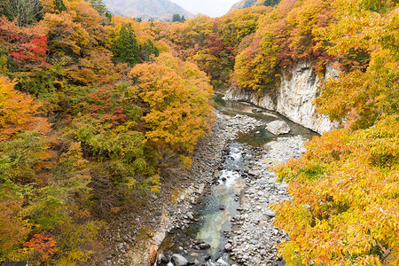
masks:
[[[192,13],[169,0],[104,0],[110,12],[143,20],[172,20],[173,14],[191,18]]]

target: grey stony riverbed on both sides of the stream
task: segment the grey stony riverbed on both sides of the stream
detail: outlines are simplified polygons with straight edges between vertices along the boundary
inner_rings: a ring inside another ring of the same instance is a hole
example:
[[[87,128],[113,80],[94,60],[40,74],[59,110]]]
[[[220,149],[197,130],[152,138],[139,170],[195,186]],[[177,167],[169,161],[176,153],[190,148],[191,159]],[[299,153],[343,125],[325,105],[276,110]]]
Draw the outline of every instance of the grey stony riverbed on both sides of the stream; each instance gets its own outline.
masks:
[[[250,135],[265,128],[268,122],[243,114],[225,115],[215,110],[215,125],[192,153],[192,168],[170,172],[168,178],[161,180],[160,193],[150,194],[141,211],[132,212],[121,218],[121,224],[111,226],[108,233],[112,241],[105,251],[106,257],[94,263],[152,265],[157,256],[159,262],[162,258],[170,261],[172,254],[160,252],[160,245],[168,232],[186,231],[191,224],[200,222],[202,217],[198,209],[201,201],[207,200],[207,193],[215,184],[226,182],[216,172],[222,169],[229,145],[243,133]],[[239,169],[239,176],[243,177],[242,188],[233,199],[236,209],[230,217],[232,226],[222,231],[226,245],[221,246],[217,256],[208,254],[204,257],[212,259],[208,263],[214,264],[209,265],[278,265],[282,262],[274,244],[285,239],[286,235],[271,224],[274,214],[268,207],[272,202],[287,200],[288,195],[286,184],[275,183],[276,178],[269,166],[300,156],[305,140],[304,137],[283,135],[262,147],[246,145],[249,152],[243,154],[251,156],[244,156],[248,160],[246,167]],[[206,241],[188,240],[187,246],[179,246],[174,252],[175,258],[188,257],[190,248],[206,252],[212,249]]]

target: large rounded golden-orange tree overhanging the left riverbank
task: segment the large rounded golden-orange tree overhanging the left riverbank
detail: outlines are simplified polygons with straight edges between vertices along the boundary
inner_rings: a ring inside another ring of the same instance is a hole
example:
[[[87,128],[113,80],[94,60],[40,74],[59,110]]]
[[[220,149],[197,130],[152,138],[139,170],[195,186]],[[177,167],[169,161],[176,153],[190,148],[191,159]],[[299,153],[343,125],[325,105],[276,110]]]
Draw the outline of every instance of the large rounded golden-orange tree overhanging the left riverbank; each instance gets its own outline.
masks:
[[[138,95],[151,108],[143,117],[152,129],[145,136],[176,151],[192,152],[209,128],[212,90],[206,74],[169,54],[135,66],[130,74],[137,79]]]

